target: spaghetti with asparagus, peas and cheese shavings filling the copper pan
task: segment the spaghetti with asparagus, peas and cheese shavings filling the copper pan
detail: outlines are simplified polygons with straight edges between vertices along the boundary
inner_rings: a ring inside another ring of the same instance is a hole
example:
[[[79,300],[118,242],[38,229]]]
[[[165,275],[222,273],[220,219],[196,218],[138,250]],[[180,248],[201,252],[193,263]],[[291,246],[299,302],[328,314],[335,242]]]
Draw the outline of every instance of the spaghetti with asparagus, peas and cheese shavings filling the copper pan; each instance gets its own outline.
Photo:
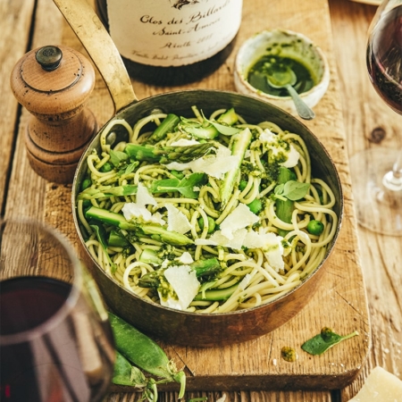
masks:
[[[304,140],[234,109],[109,122],[77,209],[97,263],[131,292],[200,314],[260,306],[314,272],[335,196]],[[107,144],[116,125],[127,142]]]

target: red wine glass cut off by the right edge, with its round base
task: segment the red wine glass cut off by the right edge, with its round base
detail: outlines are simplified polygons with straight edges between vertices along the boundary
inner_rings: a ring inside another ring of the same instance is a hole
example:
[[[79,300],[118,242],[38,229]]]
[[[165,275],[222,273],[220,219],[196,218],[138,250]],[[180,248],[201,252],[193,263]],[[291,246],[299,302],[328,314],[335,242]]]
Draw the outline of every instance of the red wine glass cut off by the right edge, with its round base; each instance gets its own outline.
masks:
[[[367,69],[373,87],[402,113],[402,0],[384,0],[369,29]],[[402,124],[401,124],[402,127]],[[402,149],[372,148],[350,159],[357,221],[369,230],[402,235]]]

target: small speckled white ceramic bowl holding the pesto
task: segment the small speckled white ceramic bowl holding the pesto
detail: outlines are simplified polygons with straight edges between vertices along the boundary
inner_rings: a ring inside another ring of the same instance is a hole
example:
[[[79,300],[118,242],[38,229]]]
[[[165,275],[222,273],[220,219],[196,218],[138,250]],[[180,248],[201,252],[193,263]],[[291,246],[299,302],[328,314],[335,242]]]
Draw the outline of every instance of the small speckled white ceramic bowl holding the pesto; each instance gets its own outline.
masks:
[[[248,83],[248,71],[265,54],[289,57],[304,64],[312,74],[314,87],[299,96],[311,108],[317,105],[330,84],[328,61],[321,48],[315,46],[311,39],[285,29],[264,30],[240,46],[234,71],[235,87],[240,93],[255,96],[297,115],[291,96],[273,96]]]

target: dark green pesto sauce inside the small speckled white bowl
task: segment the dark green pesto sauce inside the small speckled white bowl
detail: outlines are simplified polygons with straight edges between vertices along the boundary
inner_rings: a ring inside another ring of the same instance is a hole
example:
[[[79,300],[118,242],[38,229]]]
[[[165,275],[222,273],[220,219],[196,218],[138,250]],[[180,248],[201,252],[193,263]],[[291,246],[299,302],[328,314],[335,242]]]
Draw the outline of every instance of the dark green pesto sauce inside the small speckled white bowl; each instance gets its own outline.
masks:
[[[257,60],[247,73],[247,81],[252,87],[263,91],[265,94],[289,96],[286,88],[272,88],[266,80],[267,75],[272,75],[273,71],[281,71],[284,67],[289,67],[295,72],[297,81],[293,87],[299,94],[314,87],[312,74],[304,64],[289,57],[274,54],[265,54]]]

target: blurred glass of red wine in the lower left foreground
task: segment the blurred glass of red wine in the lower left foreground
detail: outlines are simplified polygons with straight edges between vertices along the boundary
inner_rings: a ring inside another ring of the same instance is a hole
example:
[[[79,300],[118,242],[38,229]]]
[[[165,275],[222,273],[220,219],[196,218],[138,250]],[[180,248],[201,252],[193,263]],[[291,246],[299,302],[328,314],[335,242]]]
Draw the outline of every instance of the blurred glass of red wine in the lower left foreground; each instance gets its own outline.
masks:
[[[0,218],[0,400],[101,401],[113,334],[95,281],[54,230]]]

